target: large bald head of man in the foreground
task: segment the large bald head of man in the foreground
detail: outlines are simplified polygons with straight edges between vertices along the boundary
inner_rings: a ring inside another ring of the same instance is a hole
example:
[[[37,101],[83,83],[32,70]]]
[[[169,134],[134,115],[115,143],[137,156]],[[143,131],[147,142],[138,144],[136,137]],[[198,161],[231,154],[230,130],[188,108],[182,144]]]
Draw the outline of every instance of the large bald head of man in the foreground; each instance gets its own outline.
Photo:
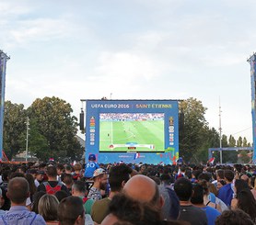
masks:
[[[156,182],[143,174],[134,175],[128,180],[123,187],[123,192],[128,197],[150,203],[158,208],[161,208],[164,203],[163,198],[159,195]]]

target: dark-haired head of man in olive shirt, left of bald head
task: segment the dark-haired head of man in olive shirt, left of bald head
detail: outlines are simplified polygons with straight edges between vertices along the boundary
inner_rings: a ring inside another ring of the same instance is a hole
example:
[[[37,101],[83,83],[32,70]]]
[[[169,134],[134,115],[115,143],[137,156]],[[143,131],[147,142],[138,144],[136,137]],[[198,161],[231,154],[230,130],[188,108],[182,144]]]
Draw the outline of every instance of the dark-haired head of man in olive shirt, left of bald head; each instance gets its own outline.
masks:
[[[125,183],[130,179],[130,174],[132,174],[132,172],[133,170],[125,164],[111,167],[109,174],[111,191],[120,192]]]

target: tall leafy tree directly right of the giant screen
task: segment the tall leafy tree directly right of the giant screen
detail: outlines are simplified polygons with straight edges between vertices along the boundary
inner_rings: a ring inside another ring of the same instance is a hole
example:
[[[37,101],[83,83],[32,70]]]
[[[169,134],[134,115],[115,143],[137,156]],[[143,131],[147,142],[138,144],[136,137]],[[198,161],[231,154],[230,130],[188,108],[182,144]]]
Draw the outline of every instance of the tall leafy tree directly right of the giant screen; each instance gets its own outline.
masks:
[[[195,98],[180,102],[180,114],[184,115],[180,129],[180,156],[187,162],[197,161],[195,153],[202,149],[205,131],[208,130],[204,114],[206,107]],[[207,152],[207,150],[204,150]]]

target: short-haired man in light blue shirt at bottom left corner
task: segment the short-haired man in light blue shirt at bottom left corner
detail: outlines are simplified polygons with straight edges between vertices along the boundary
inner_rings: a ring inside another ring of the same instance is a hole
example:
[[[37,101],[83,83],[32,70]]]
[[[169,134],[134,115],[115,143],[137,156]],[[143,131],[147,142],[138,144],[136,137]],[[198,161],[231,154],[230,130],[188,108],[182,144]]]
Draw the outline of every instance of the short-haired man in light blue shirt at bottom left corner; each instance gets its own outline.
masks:
[[[29,195],[29,183],[25,178],[11,179],[7,186],[7,197],[11,200],[11,208],[0,216],[0,224],[45,225],[41,215],[26,208]]]

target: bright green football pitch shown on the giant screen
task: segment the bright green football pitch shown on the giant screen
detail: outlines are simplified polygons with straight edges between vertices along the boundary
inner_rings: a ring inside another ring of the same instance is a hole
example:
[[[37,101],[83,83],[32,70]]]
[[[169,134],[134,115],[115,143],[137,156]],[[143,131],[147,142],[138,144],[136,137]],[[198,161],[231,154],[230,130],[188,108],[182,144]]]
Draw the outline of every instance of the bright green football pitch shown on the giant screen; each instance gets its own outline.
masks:
[[[140,145],[136,152],[163,152],[164,119],[99,121],[99,152],[132,151],[127,144]]]

